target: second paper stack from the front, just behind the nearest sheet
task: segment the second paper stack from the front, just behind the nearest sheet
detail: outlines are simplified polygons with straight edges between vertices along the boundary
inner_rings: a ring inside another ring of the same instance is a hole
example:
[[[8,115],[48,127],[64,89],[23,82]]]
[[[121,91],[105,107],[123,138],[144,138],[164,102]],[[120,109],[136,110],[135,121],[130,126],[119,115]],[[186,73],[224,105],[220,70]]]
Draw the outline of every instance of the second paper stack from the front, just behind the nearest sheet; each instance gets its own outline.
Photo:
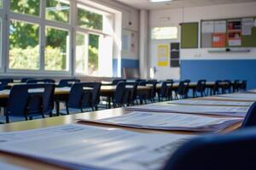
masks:
[[[82,119],[81,121],[156,130],[218,132],[238,122],[242,122],[242,120],[241,118],[216,118],[178,113],[134,111],[123,116],[95,121]]]

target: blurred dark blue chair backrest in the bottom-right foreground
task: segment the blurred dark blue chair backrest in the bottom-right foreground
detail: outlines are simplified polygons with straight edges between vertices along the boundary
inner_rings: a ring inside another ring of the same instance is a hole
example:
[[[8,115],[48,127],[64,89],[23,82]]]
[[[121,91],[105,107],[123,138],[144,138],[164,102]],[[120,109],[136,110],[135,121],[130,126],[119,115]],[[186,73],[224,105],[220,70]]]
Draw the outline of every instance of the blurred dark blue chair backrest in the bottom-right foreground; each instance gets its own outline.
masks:
[[[255,169],[256,128],[192,139],[177,149],[163,170]]]

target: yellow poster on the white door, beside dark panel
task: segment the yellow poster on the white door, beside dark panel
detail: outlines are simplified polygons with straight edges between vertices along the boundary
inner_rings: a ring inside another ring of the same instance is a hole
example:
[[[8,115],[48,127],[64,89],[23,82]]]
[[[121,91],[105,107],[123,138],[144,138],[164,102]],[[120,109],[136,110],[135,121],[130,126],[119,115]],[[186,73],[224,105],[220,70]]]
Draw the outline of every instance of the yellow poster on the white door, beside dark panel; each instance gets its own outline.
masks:
[[[170,46],[169,44],[160,44],[157,46],[158,66],[169,65]]]

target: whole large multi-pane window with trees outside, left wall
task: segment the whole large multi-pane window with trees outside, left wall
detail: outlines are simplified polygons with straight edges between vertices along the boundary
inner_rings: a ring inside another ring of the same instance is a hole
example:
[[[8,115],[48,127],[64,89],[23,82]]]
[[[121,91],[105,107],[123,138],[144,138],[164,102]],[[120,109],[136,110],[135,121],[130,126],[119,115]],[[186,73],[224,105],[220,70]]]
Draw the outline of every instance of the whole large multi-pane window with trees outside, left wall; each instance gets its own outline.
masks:
[[[113,50],[118,49],[114,31],[119,35],[121,30],[114,20],[120,20],[121,13],[115,15],[107,12],[108,7],[101,9],[96,4],[98,8],[93,8],[93,2],[86,3],[0,0],[0,71],[111,77],[113,53],[120,53]]]

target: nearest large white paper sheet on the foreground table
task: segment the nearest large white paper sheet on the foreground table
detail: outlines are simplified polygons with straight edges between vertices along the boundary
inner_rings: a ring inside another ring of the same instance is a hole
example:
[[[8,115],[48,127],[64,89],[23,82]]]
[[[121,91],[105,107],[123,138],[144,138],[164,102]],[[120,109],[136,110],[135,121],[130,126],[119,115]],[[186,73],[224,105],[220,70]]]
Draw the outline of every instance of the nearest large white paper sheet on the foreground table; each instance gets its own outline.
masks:
[[[193,137],[69,124],[0,133],[0,150],[72,169],[157,170]]]

